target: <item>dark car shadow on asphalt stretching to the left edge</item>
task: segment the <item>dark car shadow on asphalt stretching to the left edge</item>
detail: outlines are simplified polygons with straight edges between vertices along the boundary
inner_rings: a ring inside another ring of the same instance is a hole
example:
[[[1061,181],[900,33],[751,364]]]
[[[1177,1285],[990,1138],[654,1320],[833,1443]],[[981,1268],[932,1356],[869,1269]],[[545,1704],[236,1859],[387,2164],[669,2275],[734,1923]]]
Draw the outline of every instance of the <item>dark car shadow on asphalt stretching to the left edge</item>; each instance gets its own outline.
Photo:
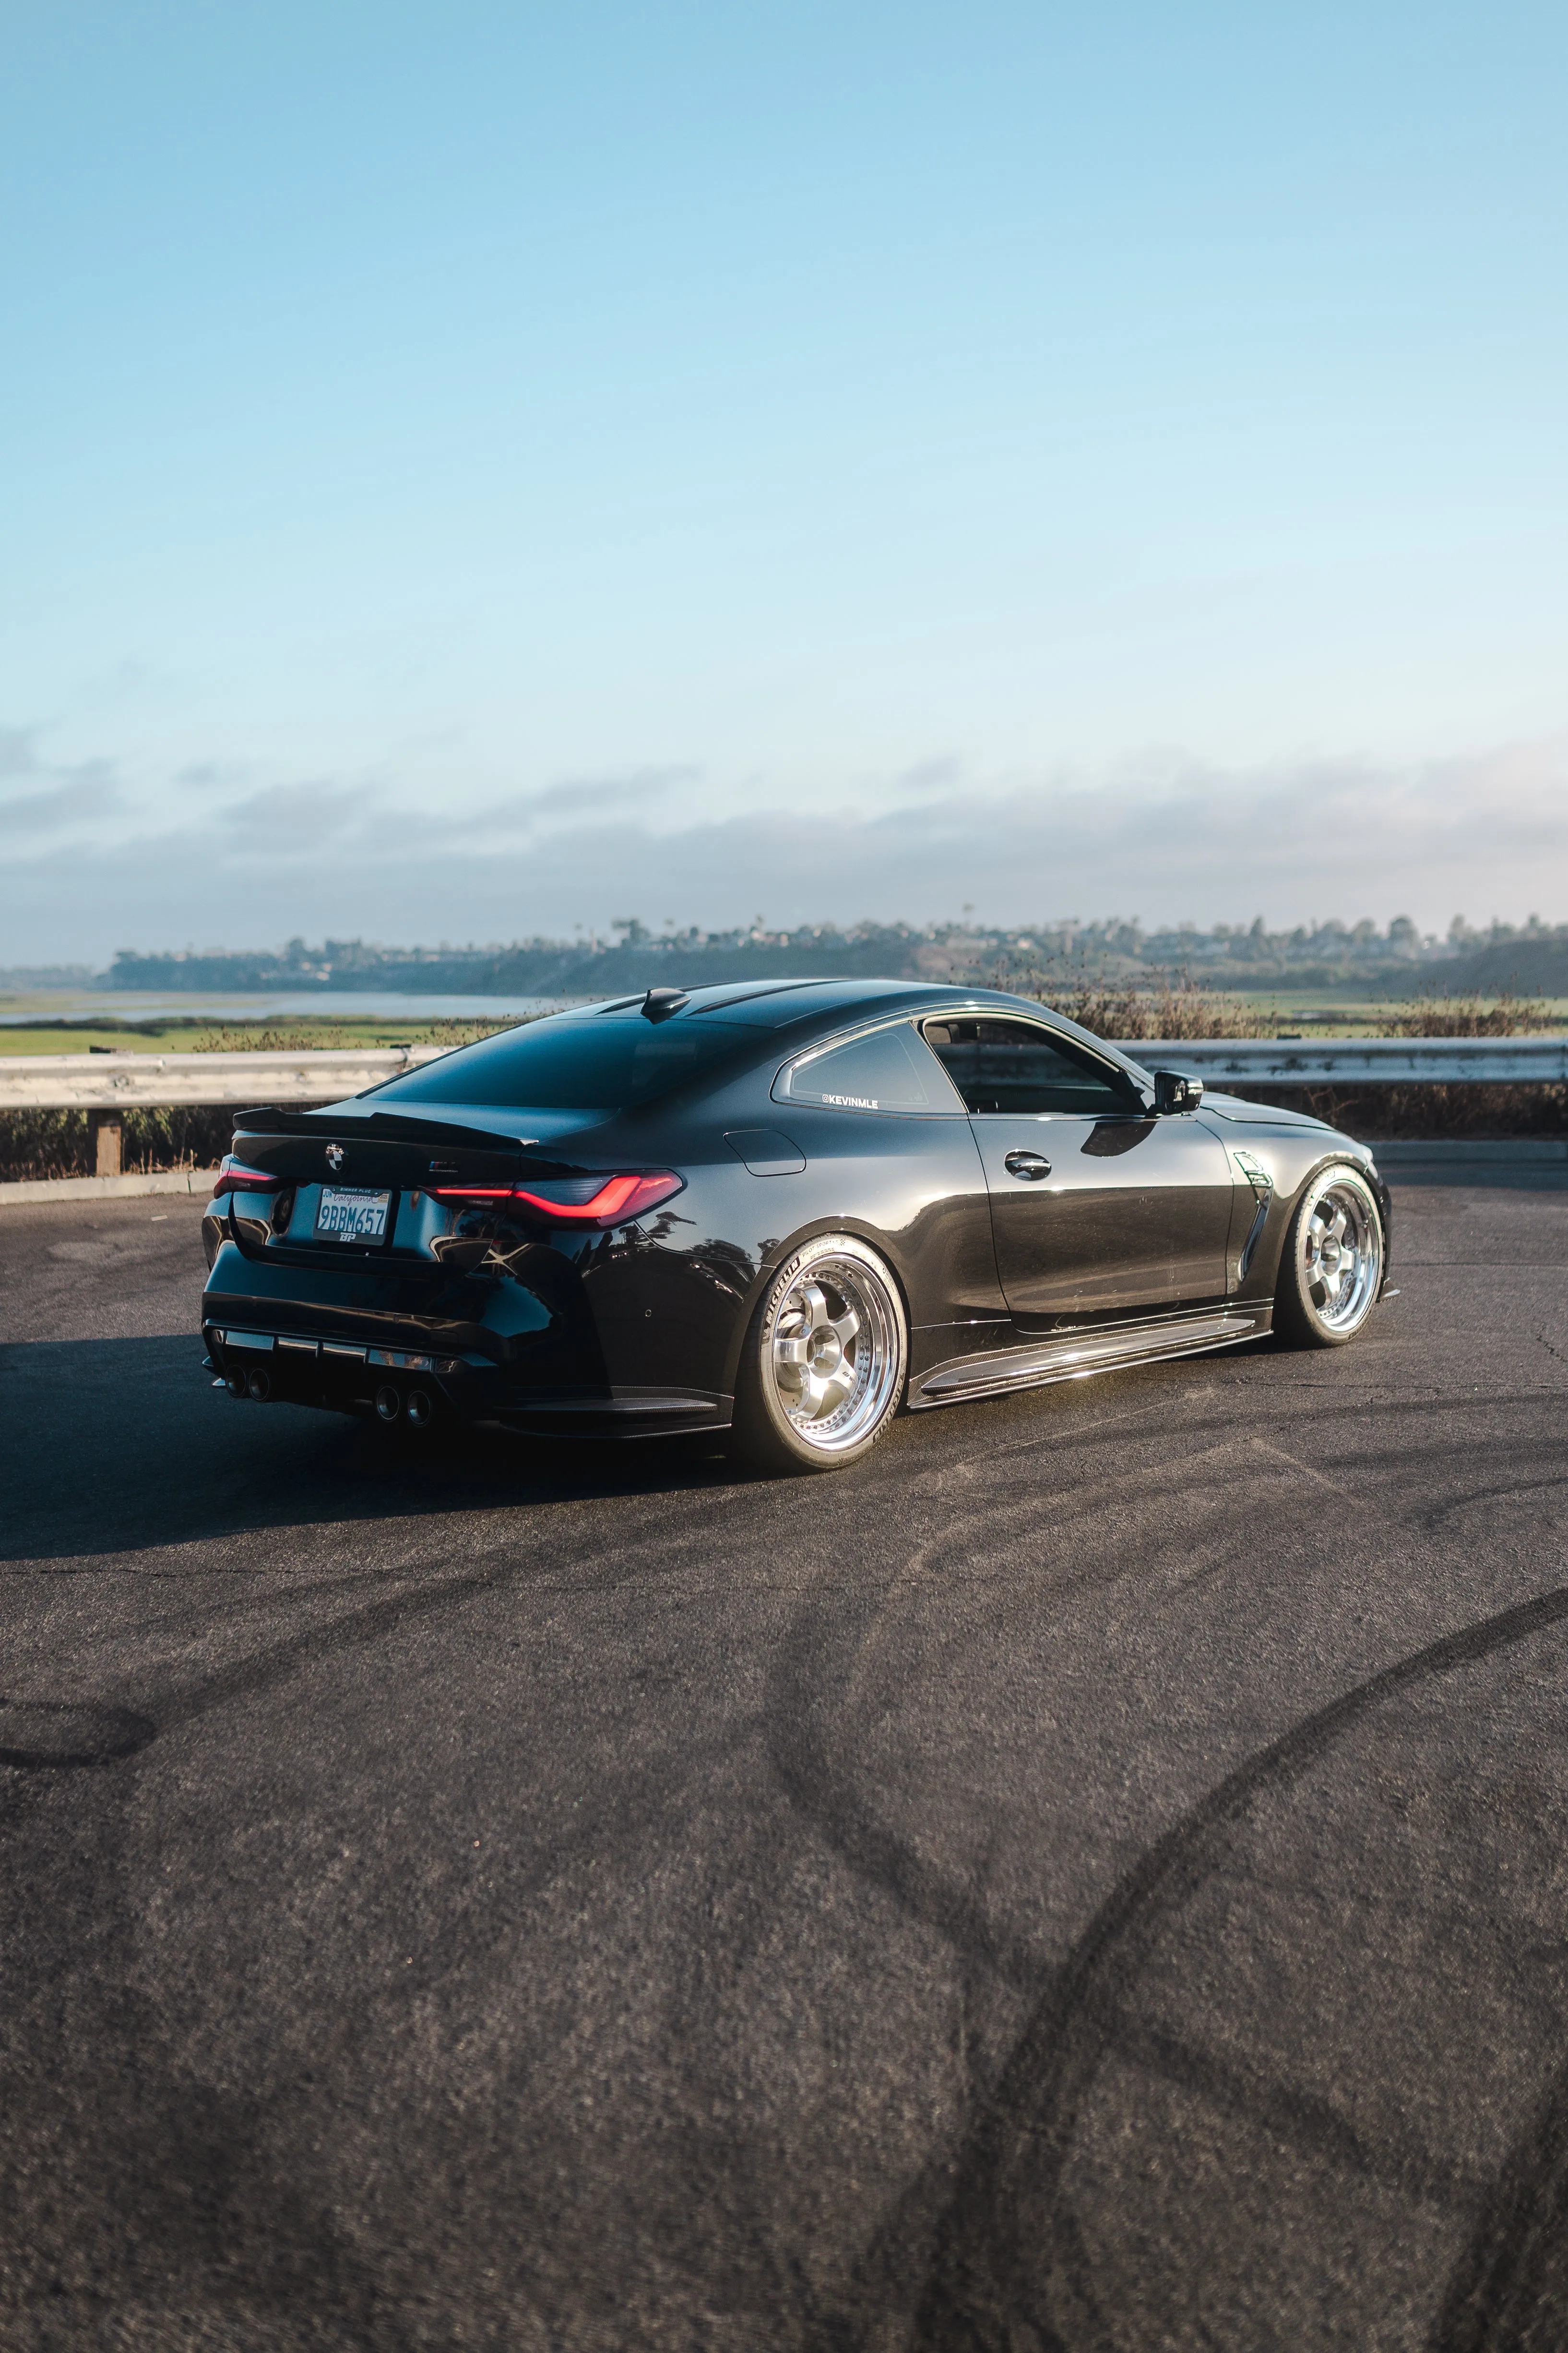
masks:
[[[190,1339],[0,1348],[0,1560],[148,1551],[346,1520],[400,1520],[731,1487],[755,1473],[703,1438],[529,1440],[383,1431],[212,1386]]]

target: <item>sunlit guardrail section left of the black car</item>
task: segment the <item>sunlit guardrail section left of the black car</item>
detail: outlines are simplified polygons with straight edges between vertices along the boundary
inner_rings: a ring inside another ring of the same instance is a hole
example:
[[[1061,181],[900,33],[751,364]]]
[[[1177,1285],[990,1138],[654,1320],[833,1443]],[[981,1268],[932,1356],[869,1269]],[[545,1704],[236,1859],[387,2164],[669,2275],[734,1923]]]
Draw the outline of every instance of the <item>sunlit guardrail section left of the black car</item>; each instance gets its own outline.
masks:
[[[0,1111],[339,1104],[447,1052],[444,1045],[400,1045],[299,1054],[0,1054]]]

